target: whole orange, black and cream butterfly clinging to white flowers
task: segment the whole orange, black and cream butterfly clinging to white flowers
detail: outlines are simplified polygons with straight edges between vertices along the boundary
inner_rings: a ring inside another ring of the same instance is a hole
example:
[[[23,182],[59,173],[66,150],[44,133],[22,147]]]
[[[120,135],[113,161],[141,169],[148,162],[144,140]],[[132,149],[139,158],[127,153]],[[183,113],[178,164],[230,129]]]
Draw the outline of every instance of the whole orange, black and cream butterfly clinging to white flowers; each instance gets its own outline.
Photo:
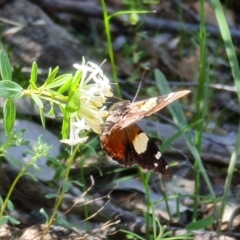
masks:
[[[172,173],[166,160],[155,142],[136,122],[189,92],[183,90],[143,101],[123,101],[114,104],[109,110],[100,136],[102,149],[121,165],[138,165],[162,174],[164,179],[170,179]]]

